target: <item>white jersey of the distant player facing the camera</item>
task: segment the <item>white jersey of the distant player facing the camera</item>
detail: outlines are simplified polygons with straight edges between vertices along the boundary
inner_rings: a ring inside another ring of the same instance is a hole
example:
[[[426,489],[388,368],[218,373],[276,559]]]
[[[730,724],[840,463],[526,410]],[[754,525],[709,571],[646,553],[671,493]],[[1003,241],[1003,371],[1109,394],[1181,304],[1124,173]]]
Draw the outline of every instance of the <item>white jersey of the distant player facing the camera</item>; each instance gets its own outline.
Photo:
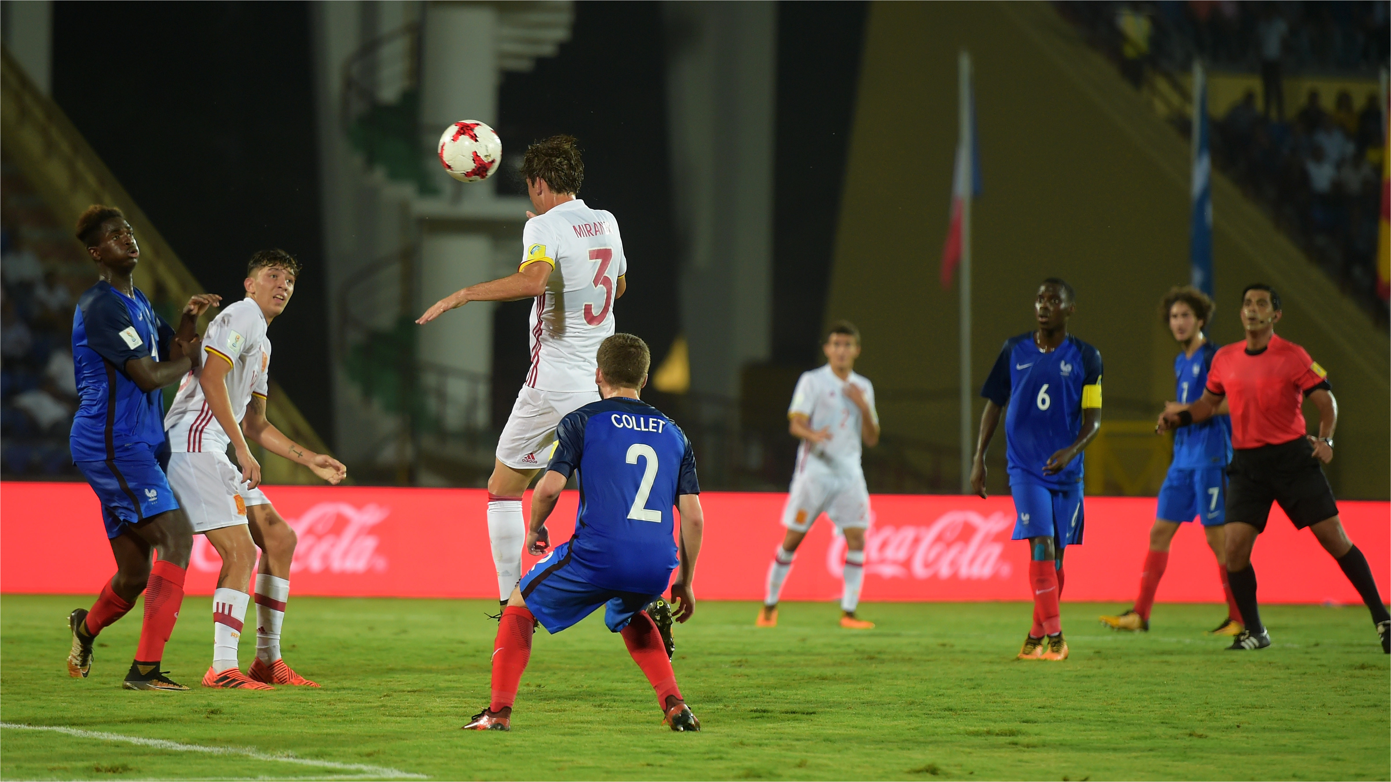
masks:
[[[869,413],[875,423],[879,413],[874,406],[874,384],[864,376],[850,373],[849,380],[840,380],[830,370],[830,365],[821,369],[801,373],[797,387],[791,392],[791,405],[787,415],[801,413],[807,416],[811,429],[821,431],[830,429],[830,438],[812,445],[803,440],[797,448],[797,472],[811,465],[822,465],[837,472],[853,472],[862,474],[860,466],[861,416],[860,408],[846,397],[846,385],[854,384],[865,395]]]

